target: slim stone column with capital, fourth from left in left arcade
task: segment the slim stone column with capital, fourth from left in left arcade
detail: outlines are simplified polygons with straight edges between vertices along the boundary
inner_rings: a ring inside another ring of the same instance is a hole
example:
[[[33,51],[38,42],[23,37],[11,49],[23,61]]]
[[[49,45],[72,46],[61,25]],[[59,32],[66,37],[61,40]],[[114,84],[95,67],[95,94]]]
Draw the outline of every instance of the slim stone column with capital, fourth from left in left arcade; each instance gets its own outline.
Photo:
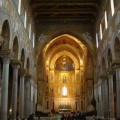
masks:
[[[26,105],[26,116],[28,117],[30,115],[30,98],[31,98],[31,94],[30,94],[30,80],[31,80],[31,76],[29,74],[26,75],[26,95],[27,95],[27,105]]]

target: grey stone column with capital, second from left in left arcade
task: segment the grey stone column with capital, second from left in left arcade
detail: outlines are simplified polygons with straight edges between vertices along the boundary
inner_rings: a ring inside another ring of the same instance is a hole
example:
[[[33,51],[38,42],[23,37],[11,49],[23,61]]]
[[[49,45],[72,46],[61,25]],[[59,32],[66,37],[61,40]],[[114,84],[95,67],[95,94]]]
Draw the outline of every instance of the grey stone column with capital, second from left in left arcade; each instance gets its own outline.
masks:
[[[18,69],[20,68],[20,62],[14,60],[11,62],[13,65],[13,86],[12,86],[12,119],[16,120],[17,111],[17,90],[18,90]]]

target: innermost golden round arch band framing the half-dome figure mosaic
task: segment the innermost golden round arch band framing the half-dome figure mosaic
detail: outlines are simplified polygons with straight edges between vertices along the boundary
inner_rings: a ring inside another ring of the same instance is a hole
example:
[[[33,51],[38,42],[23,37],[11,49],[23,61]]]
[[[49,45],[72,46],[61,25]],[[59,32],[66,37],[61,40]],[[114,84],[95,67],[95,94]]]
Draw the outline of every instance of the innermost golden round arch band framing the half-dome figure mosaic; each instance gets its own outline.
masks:
[[[76,59],[76,57],[72,54],[72,53],[70,53],[69,51],[61,51],[61,52],[59,52],[59,53],[57,53],[53,58],[52,58],[52,60],[51,60],[51,62],[50,62],[50,69],[54,69],[54,65],[55,65],[55,63],[56,63],[56,60],[59,58],[59,57],[61,57],[61,56],[69,56],[72,60],[73,60],[73,62],[74,62],[74,64],[75,64],[75,69],[79,69],[79,62],[78,62],[78,60]]]

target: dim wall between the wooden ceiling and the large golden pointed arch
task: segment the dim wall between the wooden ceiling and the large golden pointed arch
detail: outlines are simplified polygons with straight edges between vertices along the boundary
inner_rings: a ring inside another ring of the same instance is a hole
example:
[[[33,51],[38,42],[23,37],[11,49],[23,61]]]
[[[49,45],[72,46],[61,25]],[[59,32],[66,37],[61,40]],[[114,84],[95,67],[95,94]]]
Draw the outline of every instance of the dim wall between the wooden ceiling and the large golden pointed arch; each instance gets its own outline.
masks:
[[[91,54],[94,54],[95,44],[93,28],[89,23],[80,24],[43,24],[37,26],[37,37],[36,37],[36,60],[38,60],[40,51],[45,47],[45,45],[52,39],[63,35],[69,34],[73,37],[79,39],[83,44],[88,47]]]

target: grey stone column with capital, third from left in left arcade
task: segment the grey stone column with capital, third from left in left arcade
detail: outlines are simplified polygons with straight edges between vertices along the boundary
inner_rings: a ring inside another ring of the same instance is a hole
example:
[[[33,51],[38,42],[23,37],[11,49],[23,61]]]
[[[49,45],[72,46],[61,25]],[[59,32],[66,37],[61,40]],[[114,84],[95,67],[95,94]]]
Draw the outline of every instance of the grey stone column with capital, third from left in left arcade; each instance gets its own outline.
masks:
[[[24,118],[24,79],[26,70],[20,69],[20,106],[19,106],[19,116],[20,119]]]

